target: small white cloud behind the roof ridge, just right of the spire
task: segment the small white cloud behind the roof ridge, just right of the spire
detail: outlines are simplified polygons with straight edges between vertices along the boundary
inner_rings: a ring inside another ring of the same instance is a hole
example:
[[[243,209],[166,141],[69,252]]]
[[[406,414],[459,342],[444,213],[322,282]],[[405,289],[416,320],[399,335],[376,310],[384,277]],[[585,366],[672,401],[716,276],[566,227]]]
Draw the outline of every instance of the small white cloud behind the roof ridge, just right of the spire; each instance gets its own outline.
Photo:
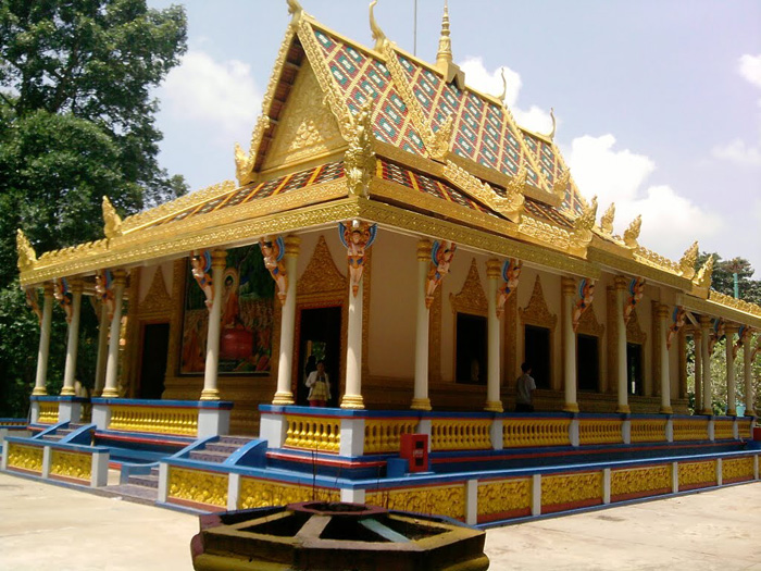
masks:
[[[523,85],[521,74],[504,65],[497,67],[494,72],[489,72],[484,66],[483,58],[473,57],[465,58],[460,67],[465,72],[465,83],[470,87],[492,96],[499,96],[502,92],[502,71],[504,71],[504,80],[507,83],[504,102],[508,104],[517,124],[537,133],[549,133],[552,131],[552,119],[547,111],[537,105],[531,105],[527,111],[517,107],[517,96]]]

